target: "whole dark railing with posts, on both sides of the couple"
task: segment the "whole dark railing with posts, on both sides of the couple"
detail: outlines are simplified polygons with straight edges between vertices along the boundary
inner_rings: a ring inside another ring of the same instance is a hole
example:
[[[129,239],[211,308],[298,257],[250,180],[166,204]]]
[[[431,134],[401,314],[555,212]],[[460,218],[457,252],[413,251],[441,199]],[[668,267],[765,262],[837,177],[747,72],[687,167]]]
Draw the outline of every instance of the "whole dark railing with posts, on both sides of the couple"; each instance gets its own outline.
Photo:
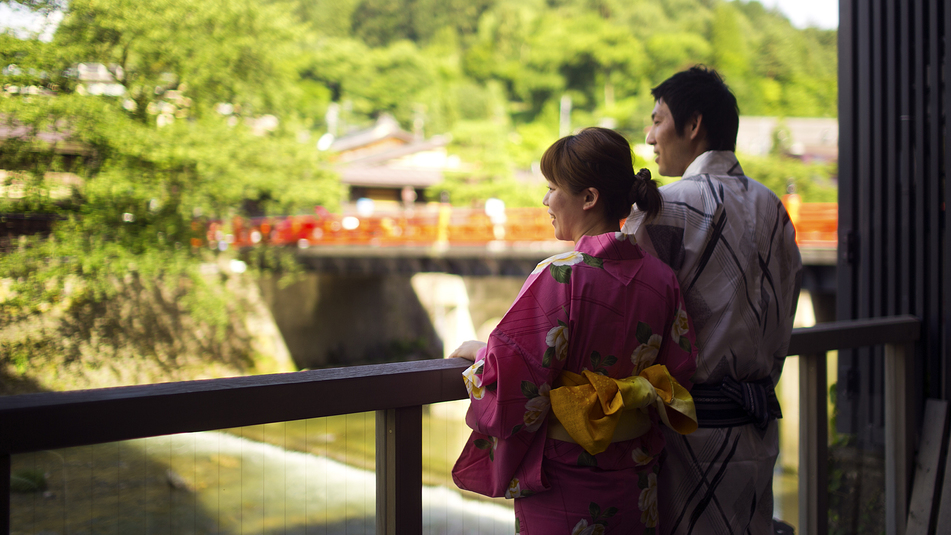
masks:
[[[827,351],[886,350],[887,532],[904,530],[914,421],[914,317],[793,332],[800,365],[800,532],[828,531]],[[429,360],[0,398],[0,534],[10,532],[11,455],[174,433],[376,411],[377,533],[422,532],[422,408],[466,398],[461,359]]]

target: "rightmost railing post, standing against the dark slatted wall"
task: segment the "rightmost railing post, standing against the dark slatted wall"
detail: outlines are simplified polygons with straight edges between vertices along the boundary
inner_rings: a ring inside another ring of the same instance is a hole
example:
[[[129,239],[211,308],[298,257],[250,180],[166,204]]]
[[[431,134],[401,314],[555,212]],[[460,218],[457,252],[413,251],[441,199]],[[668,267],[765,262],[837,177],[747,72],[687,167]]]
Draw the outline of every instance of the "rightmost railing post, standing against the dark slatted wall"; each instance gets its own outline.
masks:
[[[885,532],[903,535],[914,452],[912,344],[885,345]]]

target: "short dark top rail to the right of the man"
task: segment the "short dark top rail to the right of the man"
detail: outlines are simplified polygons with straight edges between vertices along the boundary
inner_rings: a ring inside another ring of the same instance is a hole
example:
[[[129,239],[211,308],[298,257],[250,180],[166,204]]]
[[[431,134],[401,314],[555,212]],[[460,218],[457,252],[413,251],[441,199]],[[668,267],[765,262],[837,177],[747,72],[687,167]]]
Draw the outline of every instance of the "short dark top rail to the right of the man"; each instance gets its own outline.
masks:
[[[820,323],[793,329],[789,355],[825,353],[839,349],[915,342],[921,337],[921,321],[915,316],[892,316]]]

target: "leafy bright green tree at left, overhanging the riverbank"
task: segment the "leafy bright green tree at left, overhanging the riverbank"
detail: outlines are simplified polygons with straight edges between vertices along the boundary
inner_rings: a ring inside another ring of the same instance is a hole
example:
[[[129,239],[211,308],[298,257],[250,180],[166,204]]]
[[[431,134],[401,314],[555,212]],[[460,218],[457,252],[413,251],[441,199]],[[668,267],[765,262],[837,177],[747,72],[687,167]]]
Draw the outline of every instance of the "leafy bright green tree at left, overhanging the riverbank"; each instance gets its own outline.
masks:
[[[271,26],[280,26],[274,6],[185,7],[77,0],[51,45],[32,39],[6,49],[4,59],[19,63],[3,70],[0,85],[22,89],[3,93],[0,119],[21,135],[0,145],[0,168],[8,170],[6,191],[20,194],[0,199],[0,211],[53,213],[62,222],[50,239],[22,240],[0,257],[14,296],[0,303],[0,317],[42,311],[71,277],[99,299],[128,275],[170,287],[191,281],[186,301],[207,312],[223,297],[199,276],[209,254],[205,221],[227,225],[249,202],[265,213],[336,208],[339,180],[321,169],[310,144],[286,129],[254,127],[258,113],[281,108],[280,86],[293,81],[280,57],[292,34]],[[220,46],[226,28],[246,35]],[[109,62],[126,96],[83,96],[74,75],[56,70],[93,61]],[[265,82],[269,75],[276,80]],[[68,83],[50,81],[60,78]],[[159,106],[168,102],[178,104],[174,113]],[[219,102],[236,111],[213,111]],[[63,144],[79,156],[64,156]],[[78,178],[70,197],[53,194],[55,172]],[[220,314],[208,318],[224,328]]]

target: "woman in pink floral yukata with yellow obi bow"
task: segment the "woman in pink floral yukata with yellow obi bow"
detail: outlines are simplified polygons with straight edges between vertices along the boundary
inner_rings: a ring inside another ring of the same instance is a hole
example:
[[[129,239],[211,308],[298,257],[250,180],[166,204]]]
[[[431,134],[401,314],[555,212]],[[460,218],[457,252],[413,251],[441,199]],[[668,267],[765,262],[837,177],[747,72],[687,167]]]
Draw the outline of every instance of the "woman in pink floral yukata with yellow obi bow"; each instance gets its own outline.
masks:
[[[604,128],[558,140],[541,169],[575,250],[538,264],[488,344],[450,355],[473,361],[453,480],[514,498],[517,533],[654,533],[659,426],[696,429],[697,349],[673,272],[619,229],[634,203],[656,216],[660,193]]]

